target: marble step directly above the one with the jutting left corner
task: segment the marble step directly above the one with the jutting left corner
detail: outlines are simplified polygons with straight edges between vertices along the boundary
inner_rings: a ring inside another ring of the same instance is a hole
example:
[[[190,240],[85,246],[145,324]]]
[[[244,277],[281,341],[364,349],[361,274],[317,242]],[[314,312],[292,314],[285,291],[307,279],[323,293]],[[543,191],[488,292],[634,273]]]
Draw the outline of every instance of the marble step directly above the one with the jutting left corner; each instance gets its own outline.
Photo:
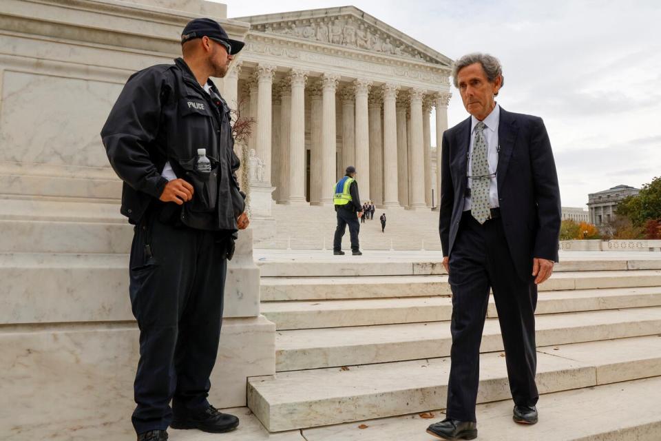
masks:
[[[649,336],[661,330],[661,307],[547,314],[536,318],[537,345]],[[275,370],[295,371],[450,355],[450,322],[277,331]],[[485,322],[481,351],[501,351],[497,318]]]

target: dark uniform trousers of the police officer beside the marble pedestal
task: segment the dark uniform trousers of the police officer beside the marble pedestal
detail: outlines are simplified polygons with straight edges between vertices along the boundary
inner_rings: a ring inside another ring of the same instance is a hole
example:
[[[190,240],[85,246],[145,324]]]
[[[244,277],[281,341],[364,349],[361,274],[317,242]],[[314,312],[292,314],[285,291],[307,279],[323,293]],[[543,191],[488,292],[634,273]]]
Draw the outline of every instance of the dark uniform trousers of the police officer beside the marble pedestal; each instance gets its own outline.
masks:
[[[216,235],[145,215],[131,247],[129,294],[140,328],[134,383],[137,433],[209,406],[227,260]],[[147,246],[148,245],[148,246]],[[172,409],[169,402],[172,400]]]

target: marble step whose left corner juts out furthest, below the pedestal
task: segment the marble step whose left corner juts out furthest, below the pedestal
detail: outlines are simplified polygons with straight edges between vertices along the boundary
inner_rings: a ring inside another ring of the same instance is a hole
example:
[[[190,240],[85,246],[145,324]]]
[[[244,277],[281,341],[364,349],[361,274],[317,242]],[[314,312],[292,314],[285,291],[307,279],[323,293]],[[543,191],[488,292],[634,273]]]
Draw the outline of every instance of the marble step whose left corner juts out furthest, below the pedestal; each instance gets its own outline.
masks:
[[[481,355],[478,402],[510,398],[502,355],[497,352]],[[269,431],[319,427],[445,407],[449,358],[347,368],[281,372],[273,377],[251,378],[248,407]],[[651,376],[661,376],[660,336],[538,348],[536,381],[540,393]],[[656,391],[648,393],[658,400]],[[611,414],[618,419],[616,415]]]

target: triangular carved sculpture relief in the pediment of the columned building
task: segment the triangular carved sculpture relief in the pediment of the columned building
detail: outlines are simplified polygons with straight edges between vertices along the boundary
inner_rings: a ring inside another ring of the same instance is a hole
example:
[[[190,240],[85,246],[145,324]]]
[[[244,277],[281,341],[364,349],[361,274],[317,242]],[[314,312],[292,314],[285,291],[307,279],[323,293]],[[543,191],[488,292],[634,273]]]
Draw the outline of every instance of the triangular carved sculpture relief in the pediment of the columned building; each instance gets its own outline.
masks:
[[[350,15],[262,23],[253,25],[253,29],[396,57],[406,57],[417,61],[439,63],[412,45]]]

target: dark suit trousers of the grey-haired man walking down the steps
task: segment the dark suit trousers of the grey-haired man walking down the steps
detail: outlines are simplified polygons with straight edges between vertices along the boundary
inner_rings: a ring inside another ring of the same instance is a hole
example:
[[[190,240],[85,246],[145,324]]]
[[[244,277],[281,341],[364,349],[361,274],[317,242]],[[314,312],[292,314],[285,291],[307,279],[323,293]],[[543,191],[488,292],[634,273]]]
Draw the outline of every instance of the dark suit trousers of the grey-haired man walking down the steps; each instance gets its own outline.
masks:
[[[480,343],[490,288],[496,301],[512,398],[517,405],[534,406],[538,400],[534,318],[537,286],[532,276],[522,280],[516,274],[501,218],[480,225],[470,212],[464,212],[449,263],[452,349],[446,415],[453,420],[476,420]]]

